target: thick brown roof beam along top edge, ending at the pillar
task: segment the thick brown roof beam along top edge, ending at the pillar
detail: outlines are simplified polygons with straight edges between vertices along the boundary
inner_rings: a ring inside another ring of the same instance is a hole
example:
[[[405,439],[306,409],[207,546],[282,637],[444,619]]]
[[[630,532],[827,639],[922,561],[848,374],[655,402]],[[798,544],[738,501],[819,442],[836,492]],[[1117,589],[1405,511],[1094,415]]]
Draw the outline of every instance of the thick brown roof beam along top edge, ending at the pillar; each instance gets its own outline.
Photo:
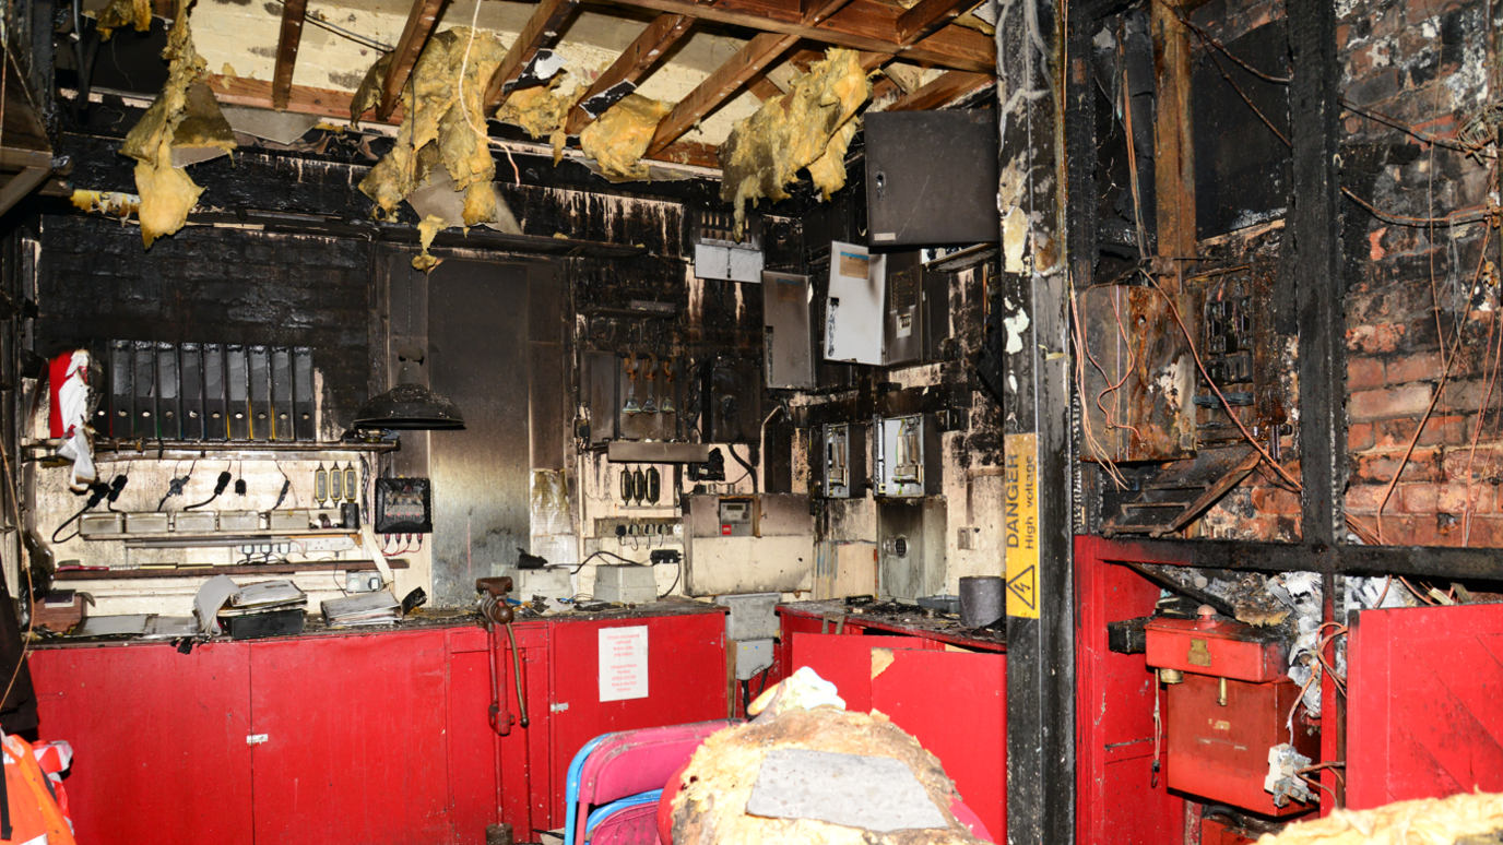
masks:
[[[990,38],[951,24],[915,44],[905,45],[897,38],[897,18],[905,14],[903,8],[888,6],[881,0],[851,0],[818,27],[804,26],[797,8],[771,0],[718,0],[712,6],[694,0],[618,2],[639,9],[676,12],[768,33],[797,35],[819,44],[858,51],[902,56],[939,68],[978,74],[996,72],[996,44]]]

